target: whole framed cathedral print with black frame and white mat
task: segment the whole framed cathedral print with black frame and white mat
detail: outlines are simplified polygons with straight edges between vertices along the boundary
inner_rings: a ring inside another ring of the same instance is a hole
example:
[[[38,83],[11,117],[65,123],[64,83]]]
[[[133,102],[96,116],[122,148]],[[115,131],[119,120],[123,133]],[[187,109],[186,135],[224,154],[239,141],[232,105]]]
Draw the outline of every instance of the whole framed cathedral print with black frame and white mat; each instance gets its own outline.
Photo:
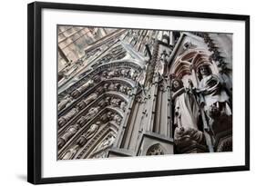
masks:
[[[29,182],[250,169],[250,16],[28,5]]]

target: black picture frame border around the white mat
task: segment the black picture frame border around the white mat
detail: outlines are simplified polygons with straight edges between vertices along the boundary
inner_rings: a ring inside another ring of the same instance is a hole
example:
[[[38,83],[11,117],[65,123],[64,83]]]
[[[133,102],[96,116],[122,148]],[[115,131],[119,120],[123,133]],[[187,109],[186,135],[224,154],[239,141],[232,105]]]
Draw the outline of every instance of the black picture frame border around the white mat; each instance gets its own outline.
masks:
[[[78,10],[138,15],[165,15],[208,19],[239,20],[245,23],[245,164],[218,168],[186,169],[176,171],[120,172],[111,174],[81,175],[42,178],[42,10]],[[27,181],[34,184],[69,181],[100,181],[180,174],[250,170],[250,16],[199,12],[142,9],[100,5],[75,5],[35,2],[27,5]]]

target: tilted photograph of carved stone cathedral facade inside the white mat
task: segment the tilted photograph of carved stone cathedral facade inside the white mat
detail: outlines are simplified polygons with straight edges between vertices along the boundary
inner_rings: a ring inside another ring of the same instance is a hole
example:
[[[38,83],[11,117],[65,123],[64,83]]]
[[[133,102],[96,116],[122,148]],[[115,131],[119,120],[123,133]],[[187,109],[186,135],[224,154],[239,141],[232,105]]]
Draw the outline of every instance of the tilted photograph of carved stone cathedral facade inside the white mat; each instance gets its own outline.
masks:
[[[58,160],[232,152],[232,34],[57,30]]]

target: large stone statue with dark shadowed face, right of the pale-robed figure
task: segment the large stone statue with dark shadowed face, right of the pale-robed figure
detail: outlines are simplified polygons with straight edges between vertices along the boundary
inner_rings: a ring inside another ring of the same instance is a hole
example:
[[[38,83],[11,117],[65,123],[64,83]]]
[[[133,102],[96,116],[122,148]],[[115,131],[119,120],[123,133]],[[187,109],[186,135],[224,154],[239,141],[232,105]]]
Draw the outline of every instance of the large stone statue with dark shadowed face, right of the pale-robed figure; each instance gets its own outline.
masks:
[[[202,64],[199,67],[200,83],[197,93],[200,93],[200,106],[212,124],[220,116],[231,116],[230,97],[225,91],[225,83],[216,74],[212,74],[210,66]]]

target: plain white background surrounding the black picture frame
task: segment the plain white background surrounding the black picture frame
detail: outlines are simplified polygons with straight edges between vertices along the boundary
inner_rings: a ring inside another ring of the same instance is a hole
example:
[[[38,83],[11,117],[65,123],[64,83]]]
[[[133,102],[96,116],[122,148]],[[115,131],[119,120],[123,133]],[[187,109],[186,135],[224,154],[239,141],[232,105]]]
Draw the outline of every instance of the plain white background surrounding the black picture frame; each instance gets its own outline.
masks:
[[[46,0],[45,0],[46,1]],[[1,29],[1,112],[0,112],[0,185],[28,185],[26,182],[26,4],[31,1],[2,1],[0,6]],[[77,0],[63,3],[118,5],[169,10],[251,15],[251,95],[256,93],[255,32],[256,12],[253,1],[212,0]],[[251,96],[251,115],[255,111],[255,97]],[[254,104],[254,105],[253,105]],[[116,181],[90,181],[57,185],[244,185],[256,176],[256,131],[251,117],[251,171],[211,173],[186,176],[129,179]],[[56,184],[55,184],[56,185]]]

